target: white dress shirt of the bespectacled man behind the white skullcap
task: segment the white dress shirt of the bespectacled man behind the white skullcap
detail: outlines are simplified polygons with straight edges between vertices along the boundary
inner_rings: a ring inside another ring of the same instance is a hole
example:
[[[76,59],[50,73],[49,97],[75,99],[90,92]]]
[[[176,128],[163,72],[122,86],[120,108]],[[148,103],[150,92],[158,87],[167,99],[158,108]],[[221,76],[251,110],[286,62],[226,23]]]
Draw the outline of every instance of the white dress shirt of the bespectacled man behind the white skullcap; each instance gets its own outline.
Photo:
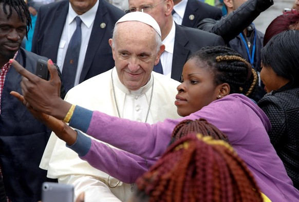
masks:
[[[176,26],[173,22],[171,31],[164,38],[162,44],[165,45],[165,50],[161,55],[161,64],[163,67],[163,74],[171,77],[171,69],[172,69],[172,58],[173,58],[173,49],[174,49],[174,41],[176,34]]]

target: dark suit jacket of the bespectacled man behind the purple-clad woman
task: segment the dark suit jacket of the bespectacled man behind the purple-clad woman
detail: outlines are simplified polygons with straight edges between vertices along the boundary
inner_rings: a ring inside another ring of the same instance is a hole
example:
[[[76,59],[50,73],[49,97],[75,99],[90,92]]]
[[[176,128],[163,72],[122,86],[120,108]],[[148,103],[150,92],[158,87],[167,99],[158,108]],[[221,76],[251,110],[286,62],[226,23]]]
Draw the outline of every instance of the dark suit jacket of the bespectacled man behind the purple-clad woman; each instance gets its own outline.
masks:
[[[206,46],[224,46],[221,36],[176,24],[171,77],[181,80],[183,66],[191,53]]]

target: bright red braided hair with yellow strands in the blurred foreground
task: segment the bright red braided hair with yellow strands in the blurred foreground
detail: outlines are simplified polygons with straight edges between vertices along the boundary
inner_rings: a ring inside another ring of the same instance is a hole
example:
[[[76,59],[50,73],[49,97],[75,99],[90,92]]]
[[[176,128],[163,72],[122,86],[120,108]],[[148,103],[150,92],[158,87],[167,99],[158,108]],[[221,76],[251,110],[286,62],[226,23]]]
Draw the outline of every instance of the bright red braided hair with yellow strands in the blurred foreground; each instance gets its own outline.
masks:
[[[223,140],[186,135],[136,181],[137,201],[263,201],[243,160]]]

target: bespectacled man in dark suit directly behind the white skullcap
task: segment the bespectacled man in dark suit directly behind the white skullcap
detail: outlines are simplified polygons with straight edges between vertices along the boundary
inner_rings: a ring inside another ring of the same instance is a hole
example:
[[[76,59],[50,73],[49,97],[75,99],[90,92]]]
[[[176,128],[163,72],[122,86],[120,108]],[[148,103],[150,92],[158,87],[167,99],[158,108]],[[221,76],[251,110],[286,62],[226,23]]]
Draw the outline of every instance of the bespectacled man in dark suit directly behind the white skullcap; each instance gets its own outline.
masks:
[[[206,46],[225,45],[222,37],[177,25],[172,18],[173,0],[128,0],[126,12],[143,11],[159,24],[165,51],[160,57],[163,74],[180,81],[183,66],[191,53]],[[154,68],[154,71],[157,71]],[[157,71],[158,72],[158,71]],[[160,72],[161,73],[161,72]]]

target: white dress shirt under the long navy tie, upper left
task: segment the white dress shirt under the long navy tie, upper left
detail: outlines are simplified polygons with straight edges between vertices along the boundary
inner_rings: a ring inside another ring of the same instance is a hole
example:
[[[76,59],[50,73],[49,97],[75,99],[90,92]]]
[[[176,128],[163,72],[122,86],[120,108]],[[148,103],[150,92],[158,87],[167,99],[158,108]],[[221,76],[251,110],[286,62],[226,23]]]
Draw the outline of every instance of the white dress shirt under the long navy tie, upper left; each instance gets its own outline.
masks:
[[[60,38],[58,54],[57,54],[57,65],[60,67],[60,71],[63,70],[64,58],[66,55],[68,43],[71,39],[72,34],[76,30],[76,21],[74,20],[75,17],[79,16],[82,20],[81,30],[82,30],[82,39],[81,39],[81,48],[80,48],[80,55],[78,60],[78,68],[76,73],[76,78],[74,82],[74,86],[79,84],[80,75],[83,69],[85,54],[87,50],[87,46],[89,43],[89,38],[92,30],[92,26],[94,25],[95,17],[97,14],[97,10],[99,7],[99,0],[97,3],[88,10],[86,13],[82,15],[78,15],[71,7],[69,3],[68,14],[66,16],[65,25],[63,28],[63,32]],[[53,28],[55,29],[55,28]],[[108,42],[107,42],[108,43]]]

